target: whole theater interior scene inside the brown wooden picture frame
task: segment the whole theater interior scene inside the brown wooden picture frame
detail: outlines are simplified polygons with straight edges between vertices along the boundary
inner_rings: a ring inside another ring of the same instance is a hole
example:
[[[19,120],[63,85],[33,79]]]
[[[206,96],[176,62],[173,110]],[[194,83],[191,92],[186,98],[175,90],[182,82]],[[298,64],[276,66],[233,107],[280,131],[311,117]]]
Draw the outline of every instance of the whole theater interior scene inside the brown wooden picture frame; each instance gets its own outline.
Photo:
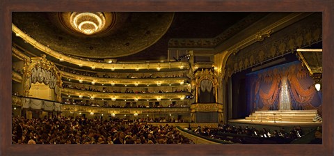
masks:
[[[321,13],[14,12],[11,46],[13,144],[322,143]]]

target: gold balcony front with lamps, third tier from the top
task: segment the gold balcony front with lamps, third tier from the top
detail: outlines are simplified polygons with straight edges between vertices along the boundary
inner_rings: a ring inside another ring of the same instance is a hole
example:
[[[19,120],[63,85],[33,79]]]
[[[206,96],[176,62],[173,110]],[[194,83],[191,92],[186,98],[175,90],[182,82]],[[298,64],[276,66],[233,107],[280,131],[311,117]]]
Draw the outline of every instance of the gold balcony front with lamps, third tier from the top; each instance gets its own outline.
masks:
[[[186,95],[190,95],[190,93],[182,92],[182,93],[104,93],[104,92],[95,92],[95,91],[82,91],[71,88],[62,88],[61,93],[68,95],[81,95],[87,97],[94,98],[116,98],[116,99],[184,99]]]

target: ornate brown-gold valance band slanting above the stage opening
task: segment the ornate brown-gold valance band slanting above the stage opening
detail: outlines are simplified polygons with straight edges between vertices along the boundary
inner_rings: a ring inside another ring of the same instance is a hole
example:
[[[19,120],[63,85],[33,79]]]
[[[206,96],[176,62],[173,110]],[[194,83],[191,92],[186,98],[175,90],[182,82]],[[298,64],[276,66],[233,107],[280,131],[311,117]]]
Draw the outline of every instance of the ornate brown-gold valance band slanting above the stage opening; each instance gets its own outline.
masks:
[[[289,52],[294,52],[299,47],[310,45],[311,42],[321,40],[321,22],[313,21],[312,24],[301,24],[294,33],[286,33],[284,36],[271,42],[264,42],[253,49],[247,49],[242,54],[223,54],[226,69],[225,76],[231,77],[234,72],[239,72],[257,63],[261,63],[277,56],[283,56]],[[311,35],[307,35],[311,34]]]

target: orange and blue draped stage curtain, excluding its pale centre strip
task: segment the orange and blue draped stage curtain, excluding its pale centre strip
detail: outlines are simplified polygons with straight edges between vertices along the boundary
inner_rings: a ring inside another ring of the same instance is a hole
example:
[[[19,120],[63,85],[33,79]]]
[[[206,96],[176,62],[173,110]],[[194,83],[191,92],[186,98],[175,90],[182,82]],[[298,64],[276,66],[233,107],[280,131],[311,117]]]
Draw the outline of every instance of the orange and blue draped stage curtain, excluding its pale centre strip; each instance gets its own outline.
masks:
[[[321,111],[322,93],[316,91],[313,79],[300,61],[276,65],[246,75],[248,113],[255,110],[278,110],[282,77],[287,77],[287,88],[293,110]]]

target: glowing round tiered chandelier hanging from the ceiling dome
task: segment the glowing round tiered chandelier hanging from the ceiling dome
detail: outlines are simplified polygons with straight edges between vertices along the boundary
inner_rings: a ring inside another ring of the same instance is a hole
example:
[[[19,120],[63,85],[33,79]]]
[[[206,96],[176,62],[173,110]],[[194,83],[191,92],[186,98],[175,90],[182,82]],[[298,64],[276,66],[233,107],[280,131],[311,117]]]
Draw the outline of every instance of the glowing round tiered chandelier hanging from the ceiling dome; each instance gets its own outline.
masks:
[[[106,18],[102,12],[72,12],[70,15],[70,24],[79,33],[93,35],[104,29]]]

